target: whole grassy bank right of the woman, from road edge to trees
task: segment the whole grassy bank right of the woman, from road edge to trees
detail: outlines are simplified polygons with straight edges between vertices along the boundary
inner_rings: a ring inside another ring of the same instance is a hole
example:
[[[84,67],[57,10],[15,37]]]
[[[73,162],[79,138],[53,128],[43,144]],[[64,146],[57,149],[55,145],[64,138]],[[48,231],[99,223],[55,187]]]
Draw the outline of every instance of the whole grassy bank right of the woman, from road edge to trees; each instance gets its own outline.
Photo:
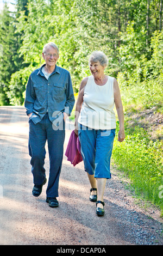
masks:
[[[129,178],[135,193],[158,206],[163,216],[163,142],[160,139],[162,126],[159,126],[162,124],[158,125],[153,139],[153,124],[143,128],[139,121],[130,118],[131,112],[139,115],[146,109],[155,109],[153,115],[162,114],[162,83],[147,81],[146,84],[143,82],[128,87],[122,83],[121,95],[126,138],[119,143],[116,134],[112,158],[118,170]]]

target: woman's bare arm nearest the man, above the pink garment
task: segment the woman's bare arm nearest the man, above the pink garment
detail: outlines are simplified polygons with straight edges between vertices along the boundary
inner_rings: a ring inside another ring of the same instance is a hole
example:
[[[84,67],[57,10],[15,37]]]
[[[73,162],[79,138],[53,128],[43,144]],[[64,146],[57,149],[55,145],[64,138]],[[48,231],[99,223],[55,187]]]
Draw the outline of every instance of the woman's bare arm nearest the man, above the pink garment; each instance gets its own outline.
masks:
[[[78,118],[79,118],[79,114],[80,114],[82,104],[83,104],[84,88],[86,86],[87,80],[88,80],[88,77],[85,77],[80,84],[78,99],[77,99],[77,103],[76,103],[74,132],[77,135],[78,135]]]

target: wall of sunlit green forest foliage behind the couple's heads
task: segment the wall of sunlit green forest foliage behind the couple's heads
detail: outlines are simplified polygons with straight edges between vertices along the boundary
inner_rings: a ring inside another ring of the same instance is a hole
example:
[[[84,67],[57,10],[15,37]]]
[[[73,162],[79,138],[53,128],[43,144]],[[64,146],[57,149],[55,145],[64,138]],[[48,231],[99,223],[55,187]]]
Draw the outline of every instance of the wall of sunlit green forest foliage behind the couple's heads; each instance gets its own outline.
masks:
[[[11,59],[8,50],[4,50],[0,69],[0,93],[4,93],[6,103],[22,102],[21,76],[27,76],[27,66],[34,69],[42,65],[42,48],[48,41],[55,41],[59,46],[58,64],[71,72],[75,92],[82,78],[90,74],[88,57],[95,50],[104,51],[108,56],[106,73],[117,77],[122,72],[126,83],[142,82],[151,75],[162,76],[162,32],[158,31],[160,1],[150,3],[148,12],[145,0],[17,0],[14,15],[6,5],[0,17],[5,28],[1,41],[5,41],[5,47],[12,45],[14,52]],[[6,34],[8,40],[4,40]],[[13,86],[13,76],[18,88]]]

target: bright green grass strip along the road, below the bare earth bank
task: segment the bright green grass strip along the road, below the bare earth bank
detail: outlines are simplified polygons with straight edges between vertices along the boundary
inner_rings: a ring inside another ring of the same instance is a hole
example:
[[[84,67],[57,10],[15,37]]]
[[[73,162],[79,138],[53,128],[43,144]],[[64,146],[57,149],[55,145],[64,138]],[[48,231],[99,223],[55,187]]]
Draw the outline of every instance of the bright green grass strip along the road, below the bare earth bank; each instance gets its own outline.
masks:
[[[159,206],[163,216],[162,145],[140,133],[126,135],[119,143],[116,135],[112,158],[118,170],[129,178],[135,193]]]

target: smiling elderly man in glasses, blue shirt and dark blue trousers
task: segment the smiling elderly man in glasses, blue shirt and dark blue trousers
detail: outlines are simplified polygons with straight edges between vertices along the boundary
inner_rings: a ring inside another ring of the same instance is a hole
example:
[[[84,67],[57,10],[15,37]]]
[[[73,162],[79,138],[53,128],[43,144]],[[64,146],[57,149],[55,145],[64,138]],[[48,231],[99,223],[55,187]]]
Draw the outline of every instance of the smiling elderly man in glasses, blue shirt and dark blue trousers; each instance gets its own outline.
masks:
[[[61,172],[65,120],[74,106],[70,72],[56,65],[59,58],[57,45],[49,42],[43,47],[44,65],[30,74],[24,105],[29,117],[29,155],[32,157],[33,196],[38,197],[46,184],[45,144],[49,151],[49,180],[46,202],[59,205],[58,186]]]

